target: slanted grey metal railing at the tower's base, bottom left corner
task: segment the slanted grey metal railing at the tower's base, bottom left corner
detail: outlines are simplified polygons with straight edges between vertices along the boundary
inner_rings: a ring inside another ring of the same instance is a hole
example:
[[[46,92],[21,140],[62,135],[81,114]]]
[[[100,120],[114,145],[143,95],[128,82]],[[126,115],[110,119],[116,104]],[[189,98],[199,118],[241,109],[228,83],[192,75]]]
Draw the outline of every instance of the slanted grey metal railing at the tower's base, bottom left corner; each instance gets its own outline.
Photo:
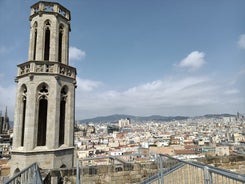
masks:
[[[5,184],[42,184],[42,177],[37,163],[18,172],[5,182]]]

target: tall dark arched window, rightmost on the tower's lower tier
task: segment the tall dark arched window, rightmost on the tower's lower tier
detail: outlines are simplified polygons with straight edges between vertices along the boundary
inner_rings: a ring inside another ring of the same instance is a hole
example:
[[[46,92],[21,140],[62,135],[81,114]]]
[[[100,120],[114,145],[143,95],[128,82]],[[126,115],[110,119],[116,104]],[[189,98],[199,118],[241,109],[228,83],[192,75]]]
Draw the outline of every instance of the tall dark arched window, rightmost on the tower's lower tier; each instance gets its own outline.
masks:
[[[62,145],[65,142],[66,97],[67,97],[67,88],[63,87],[61,90],[61,100],[60,100],[59,145]]]

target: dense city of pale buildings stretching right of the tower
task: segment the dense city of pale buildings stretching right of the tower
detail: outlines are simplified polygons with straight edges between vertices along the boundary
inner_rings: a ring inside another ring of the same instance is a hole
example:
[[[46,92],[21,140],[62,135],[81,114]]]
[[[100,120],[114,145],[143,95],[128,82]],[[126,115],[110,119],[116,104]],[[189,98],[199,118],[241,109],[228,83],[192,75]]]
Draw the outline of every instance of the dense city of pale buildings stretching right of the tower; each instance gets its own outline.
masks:
[[[114,123],[77,124],[75,145],[79,159],[142,151],[197,159],[245,154],[244,133],[245,118],[240,113],[167,122],[128,118]]]

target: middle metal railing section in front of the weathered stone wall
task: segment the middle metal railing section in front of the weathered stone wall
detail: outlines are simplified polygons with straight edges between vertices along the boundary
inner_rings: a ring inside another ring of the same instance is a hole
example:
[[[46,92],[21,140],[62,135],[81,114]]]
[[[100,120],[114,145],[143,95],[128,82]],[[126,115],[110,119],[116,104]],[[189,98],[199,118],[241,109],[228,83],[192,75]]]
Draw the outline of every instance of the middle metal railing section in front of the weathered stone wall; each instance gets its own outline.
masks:
[[[81,159],[77,171],[78,183],[129,184],[156,175],[158,168],[151,155],[129,154]]]

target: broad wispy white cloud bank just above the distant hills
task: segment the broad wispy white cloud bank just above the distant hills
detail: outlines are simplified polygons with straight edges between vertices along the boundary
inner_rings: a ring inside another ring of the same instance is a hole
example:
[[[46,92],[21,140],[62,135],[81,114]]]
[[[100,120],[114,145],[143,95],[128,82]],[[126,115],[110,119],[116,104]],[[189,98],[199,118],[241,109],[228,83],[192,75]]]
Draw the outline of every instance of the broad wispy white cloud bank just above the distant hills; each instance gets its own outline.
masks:
[[[207,76],[167,77],[124,91],[95,86],[89,93],[77,91],[76,119],[110,114],[199,115],[244,107],[238,90]]]

